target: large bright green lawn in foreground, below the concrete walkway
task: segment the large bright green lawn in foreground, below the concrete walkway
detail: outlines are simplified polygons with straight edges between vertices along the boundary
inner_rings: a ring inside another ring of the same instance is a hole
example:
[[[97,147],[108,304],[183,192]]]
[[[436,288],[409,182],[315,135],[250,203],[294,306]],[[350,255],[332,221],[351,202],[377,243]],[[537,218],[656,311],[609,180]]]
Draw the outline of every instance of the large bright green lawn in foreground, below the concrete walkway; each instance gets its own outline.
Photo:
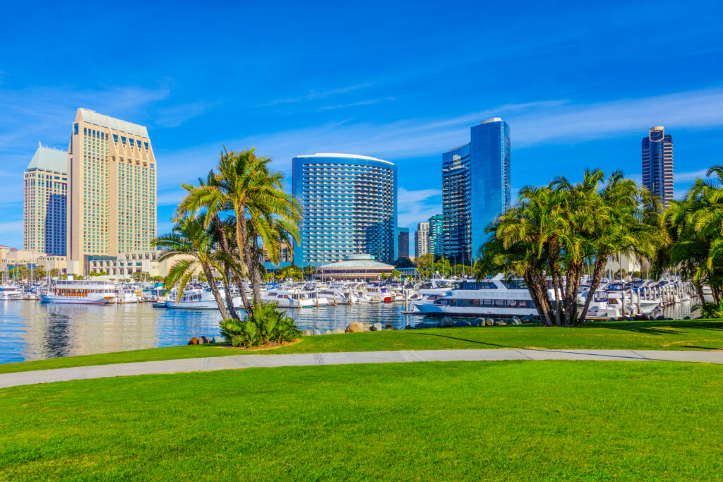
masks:
[[[14,387],[0,480],[719,480],[722,375],[498,361]]]

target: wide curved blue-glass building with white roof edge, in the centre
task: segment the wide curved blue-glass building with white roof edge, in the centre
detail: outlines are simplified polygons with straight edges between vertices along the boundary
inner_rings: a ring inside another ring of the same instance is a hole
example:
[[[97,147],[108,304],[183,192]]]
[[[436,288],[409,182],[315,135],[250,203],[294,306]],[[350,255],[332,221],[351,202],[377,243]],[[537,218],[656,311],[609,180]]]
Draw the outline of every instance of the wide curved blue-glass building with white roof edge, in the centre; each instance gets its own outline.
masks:
[[[397,258],[397,168],[352,154],[299,155],[292,160],[294,197],[303,208],[294,264],[320,266],[351,254]]]

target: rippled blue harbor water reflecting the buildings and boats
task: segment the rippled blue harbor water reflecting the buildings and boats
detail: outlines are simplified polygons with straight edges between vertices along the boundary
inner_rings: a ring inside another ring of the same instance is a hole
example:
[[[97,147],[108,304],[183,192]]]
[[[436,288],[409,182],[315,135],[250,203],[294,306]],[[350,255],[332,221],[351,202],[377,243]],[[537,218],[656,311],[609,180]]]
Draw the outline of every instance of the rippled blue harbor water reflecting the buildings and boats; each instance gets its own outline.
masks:
[[[346,328],[351,322],[400,329],[424,317],[403,314],[403,303],[288,309],[301,330]],[[685,302],[665,309],[675,319],[691,316]],[[157,309],[151,304],[106,306],[0,301],[0,363],[185,345],[191,337],[219,335],[215,310]]]

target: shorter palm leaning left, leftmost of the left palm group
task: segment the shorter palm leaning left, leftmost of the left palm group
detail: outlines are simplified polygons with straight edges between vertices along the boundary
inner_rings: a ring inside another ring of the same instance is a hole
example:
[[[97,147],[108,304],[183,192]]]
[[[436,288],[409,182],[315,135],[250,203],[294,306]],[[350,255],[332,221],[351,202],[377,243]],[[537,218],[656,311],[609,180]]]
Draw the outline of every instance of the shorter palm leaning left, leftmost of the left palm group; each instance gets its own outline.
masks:
[[[186,285],[200,269],[208,280],[211,293],[218,304],[218,309],[221,310],[221,316],[223,319],[227,319],[226,304],[213,277],[213,270],[221,271],[218,259],[214,255],[213,244],[212,233],[204,228],[203,220],[200,217],[194,216],[177,218],[176,225],[170,234],[158,236],[153,240],[153,246],[163,250],[158,261],[170,257],[181,257],[168,271],[166,281],[163,283],[166,289],[171,289],[178,283],[178,299],[180,299]]]

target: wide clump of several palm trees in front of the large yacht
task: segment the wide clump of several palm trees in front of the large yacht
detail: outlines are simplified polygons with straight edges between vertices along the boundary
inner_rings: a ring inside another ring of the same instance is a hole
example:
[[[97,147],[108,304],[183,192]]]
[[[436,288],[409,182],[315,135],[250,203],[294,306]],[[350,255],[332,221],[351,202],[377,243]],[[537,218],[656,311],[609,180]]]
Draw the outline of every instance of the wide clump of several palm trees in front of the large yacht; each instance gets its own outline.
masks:
[[[594,293],[611,254],[649,255],[664,240],[647,191],[619,172],[601,189],[603,179],[602,171],[588,170],[579,184],[558,177],[549,186],[521,189],[518,202],[488,228],[492,238],[479,251],[477,276],[519,275],[545,324],[553,317],[557,326],[581,324],[592,299],[578,316],[585,267],[594,264]]]

